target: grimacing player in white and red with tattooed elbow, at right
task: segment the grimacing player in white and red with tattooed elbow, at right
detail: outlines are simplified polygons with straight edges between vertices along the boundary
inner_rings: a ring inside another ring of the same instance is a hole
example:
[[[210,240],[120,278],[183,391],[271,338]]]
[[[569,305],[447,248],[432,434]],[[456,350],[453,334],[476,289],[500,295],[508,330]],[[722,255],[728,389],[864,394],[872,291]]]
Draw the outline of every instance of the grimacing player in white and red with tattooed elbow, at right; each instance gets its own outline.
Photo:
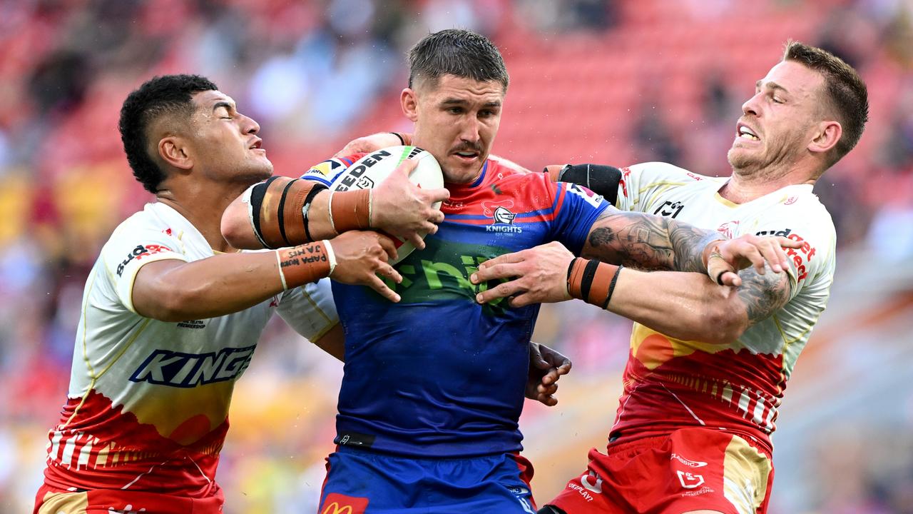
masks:
[[[834,280],[834,223],[813,185],[853,149],[867,117],[856,71],[791,41],[742,104],[731,177],[665,163],[549,170],[585,169],[619,209],[801,246],[788,251],[786,273],[746,269],[734,289],[598,263],[616,280],[603,308],[636,322],[624,394],[606,452],[591,450],[587,470],[540,514],[767,511],[778,408]],[[568,287],[568,269],[582,264],[551,244],[485,262],[472,281],[513,279],[479,294],[483,304],[512,295],[510,305],[556,302],[580,297]],[[639,294],[645,286],[648,302]],[[704,312],[716,322],[685,334]]]

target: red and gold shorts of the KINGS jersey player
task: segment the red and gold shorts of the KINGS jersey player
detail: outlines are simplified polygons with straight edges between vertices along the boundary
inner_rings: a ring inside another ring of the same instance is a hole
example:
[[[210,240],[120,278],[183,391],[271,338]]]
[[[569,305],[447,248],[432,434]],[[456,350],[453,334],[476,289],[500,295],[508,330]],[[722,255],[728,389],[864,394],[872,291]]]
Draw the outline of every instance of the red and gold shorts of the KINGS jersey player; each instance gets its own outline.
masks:
[[[222,514],[225,497],[219,489],[209,498],[186,498],[119,490],[71,492],[43,484],[33,514]]]

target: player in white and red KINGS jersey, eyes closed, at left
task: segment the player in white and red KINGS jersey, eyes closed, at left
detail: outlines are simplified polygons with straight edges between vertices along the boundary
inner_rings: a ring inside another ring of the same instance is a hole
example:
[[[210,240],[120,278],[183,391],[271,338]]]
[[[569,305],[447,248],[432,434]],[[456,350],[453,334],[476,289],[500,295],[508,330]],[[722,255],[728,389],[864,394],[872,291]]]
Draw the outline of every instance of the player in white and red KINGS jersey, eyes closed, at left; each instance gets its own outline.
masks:
[[[351,231],[235,252],[219,230],[222,211],[272,164],[259,125],[209,80],[147,81],[123,103],[120,128],[133,174],[157,201],[114,230],[89,274],[34,511],[215,514],[232,389],[269,317],[341,356],[329,284],[315,281],[331,276],[395,300],[375,274],[401,280],[387,263],[395,249],[373,231]],[[404,233],[434,217],[433,198],[446,198],[407,180],[375,193],[380,210],[408,220]],[[412,200],[429,209],[395,205]]]

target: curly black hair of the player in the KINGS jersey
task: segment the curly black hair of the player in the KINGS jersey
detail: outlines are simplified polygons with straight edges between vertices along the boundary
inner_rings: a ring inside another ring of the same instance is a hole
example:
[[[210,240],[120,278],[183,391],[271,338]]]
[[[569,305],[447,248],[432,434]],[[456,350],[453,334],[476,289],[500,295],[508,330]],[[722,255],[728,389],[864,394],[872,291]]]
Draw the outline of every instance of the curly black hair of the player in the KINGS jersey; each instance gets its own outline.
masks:
[[[193,97],[199,91],[215,91],[215,84],[199,75],[153,77],[130,93],[121,107],[121,141],[133,177],[151,193],[158,190],[164,171],[149,155],[149,125],[163,115],[189,118],[194,112]]]

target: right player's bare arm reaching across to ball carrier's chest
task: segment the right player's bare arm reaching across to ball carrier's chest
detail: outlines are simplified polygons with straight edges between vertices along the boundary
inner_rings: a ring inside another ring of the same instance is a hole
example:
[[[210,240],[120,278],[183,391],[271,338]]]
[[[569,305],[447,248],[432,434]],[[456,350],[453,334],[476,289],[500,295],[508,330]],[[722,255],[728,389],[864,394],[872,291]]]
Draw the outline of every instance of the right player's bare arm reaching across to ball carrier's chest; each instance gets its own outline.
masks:
[[[796,245],[796,241],[771,240]],[[743,243],[724,242],[721,250],[729,253],[726,245]],[[701,273],[644,273],[600,262],[591,264],[592,276],[570,276],[585,271],[586,264],[590,262],[575,259],[561,243],[551,242],[483,262],[470,281],[512,279],[478,294],[480,303],[510,297],[511,306],[521,306],[578,297],[667,336],[716,344],[740,337],[785,305],[790,294],[787,273],[769,273],[773,270],[763,262],[760,272],[749,267],[739,273],[738,288],[720,287]],[[588,280],[585,286],[584,279]]]

